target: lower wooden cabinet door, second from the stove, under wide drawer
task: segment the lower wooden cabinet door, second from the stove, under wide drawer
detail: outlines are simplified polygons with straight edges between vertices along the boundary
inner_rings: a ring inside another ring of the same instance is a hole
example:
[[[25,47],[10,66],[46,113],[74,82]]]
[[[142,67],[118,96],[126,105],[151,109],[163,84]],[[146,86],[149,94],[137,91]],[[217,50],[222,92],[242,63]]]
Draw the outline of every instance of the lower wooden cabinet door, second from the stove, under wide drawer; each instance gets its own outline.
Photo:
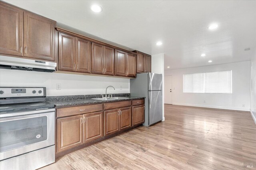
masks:
[[[103,112],[84,114],[84,143],[103,136]]]

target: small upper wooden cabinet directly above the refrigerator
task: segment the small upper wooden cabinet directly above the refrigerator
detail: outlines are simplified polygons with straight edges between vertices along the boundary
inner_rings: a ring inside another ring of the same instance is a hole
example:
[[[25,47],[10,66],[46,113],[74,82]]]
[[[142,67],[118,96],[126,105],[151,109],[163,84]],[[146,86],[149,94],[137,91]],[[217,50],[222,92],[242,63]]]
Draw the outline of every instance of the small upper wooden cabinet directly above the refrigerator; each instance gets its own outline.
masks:
[[[140,51],[137,53],[137,73],[151,72],[151,56]]]

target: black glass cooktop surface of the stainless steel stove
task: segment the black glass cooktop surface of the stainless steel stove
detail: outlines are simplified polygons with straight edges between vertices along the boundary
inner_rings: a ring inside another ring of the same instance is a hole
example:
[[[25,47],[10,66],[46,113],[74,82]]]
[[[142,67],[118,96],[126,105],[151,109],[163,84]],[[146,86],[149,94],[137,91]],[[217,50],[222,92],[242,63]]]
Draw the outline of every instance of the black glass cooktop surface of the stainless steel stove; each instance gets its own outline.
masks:
[[[48,102],[2,105],[0,106],[0,114],[21,112],[21,111],[33,111],[33,110],[39,110],[39,109],[50,109],[50,108],[54,108],[54,104],[51,104]]]

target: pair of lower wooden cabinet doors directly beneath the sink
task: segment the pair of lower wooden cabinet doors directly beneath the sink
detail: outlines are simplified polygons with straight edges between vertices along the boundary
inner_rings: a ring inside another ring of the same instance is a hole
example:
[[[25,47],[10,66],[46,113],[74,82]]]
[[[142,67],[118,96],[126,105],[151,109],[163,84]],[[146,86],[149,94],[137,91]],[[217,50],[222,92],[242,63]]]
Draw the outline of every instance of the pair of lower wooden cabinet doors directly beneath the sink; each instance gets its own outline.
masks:
[[[104,115],[105,136],[132,127],[132,107],[104,111]]]

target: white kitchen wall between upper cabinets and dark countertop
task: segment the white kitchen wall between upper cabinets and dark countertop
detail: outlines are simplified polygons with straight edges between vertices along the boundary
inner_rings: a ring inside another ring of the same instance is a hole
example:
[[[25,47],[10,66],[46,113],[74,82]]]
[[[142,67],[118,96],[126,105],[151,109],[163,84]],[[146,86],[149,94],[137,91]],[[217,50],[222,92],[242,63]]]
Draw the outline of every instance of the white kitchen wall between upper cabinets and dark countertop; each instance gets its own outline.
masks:
[[[56,83],[61,84],[61,90],[56,90]],[[46,87],[47,96],[105,94],[109,85],[116,90],[108,89],[108,93],[130,93],[128,78],[0,69],[1,87],[41,86]]]

